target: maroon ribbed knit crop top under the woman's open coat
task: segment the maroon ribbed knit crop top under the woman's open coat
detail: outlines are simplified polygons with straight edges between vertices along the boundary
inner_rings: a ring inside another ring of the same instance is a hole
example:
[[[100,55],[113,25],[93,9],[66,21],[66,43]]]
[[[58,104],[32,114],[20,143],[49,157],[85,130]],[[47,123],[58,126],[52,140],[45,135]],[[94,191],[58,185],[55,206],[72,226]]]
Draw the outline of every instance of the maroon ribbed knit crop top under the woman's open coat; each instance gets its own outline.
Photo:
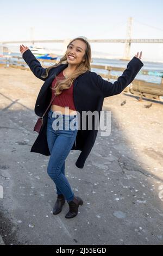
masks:
[[[63,72],[61,71],[57,77],[65,78]],[[55,88],[55,83],[57,82],[56,78],[54,78],[52,82],[52,88]],[[54,97],[54,90],[52,90],[52,98]],[[76,110],[76,107],[74,106],[73,101],[73,83],[72,86],[69,89],[62,90],[62,93],[58,96],[55,96],[52,105],[58,105],[61,107],[69,107],[69,109]]]

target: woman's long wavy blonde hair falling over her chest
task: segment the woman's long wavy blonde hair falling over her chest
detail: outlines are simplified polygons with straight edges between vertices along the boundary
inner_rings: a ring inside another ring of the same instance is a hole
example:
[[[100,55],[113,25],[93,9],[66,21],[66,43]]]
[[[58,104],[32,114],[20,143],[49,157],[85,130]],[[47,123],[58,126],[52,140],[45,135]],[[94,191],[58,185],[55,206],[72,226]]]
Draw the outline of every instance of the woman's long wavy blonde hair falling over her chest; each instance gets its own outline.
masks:
[[[68,46],[75,40],[81,40],[83,42],[85,42],[86,44],[86,50],[85,50],[85,54],[84,54],[84,57],[85,58],[85,62],[81,62],[77,65],[77,68],[76,70],[67,78],[65,79],[59,79],[55,76],[57,82],[55,84],[55,88],[52,88],[52,90],[55,91],[55,95],[59,95],[62,93],[62,90],[66,90],[66,89],[69,89],[73,83],[73,81],[81,74],[85,73],[87,70],[91,70],[91,46],[89,44],[89,42],[82,38],[82,37],[78,37],[78,38],[74,38],[72,41],[69,42],[69,44],[67,45],[67,48]],[[62,64],[62,62],[64,62],[64,64],[68,64],[67,62],[67,57],[66,57],[66,53],[65,55],[60,59],[59,63],[58,64],[55,64],[53,66],[49,66],[48,68],[46,68],[46,74],[45,75],[42,75],[43,78],[46,78],[48,76],[48,72],[49,70],[51,70],[52,68],[54,67],[57,67],[59,66],[60,64]]]

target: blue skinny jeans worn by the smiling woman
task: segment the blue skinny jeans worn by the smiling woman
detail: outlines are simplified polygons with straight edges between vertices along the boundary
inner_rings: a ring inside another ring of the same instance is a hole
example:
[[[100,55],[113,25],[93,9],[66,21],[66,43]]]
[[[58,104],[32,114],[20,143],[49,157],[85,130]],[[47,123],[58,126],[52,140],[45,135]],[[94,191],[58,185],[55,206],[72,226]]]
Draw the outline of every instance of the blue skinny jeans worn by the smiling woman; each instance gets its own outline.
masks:
[[[57,194],[63,194],[67,202],[73,200],[74,193],[65,176],[65,160],[71,151],[77,132],[78,115],[60,114],[50,109],[47,120],[47,142],[51,156],[47,173],[55,183]]]

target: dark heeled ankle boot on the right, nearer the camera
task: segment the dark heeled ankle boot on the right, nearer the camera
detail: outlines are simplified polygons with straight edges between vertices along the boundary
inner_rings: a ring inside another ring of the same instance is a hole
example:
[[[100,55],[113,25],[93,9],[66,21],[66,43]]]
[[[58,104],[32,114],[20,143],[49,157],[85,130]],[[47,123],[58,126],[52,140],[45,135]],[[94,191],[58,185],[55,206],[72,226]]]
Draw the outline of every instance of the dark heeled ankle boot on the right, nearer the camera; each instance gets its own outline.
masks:
[[[69,203],[69,211],[67,212],[65,218],[73,218],[78,214],[79,205],[83,204],[83,200],[80,197],[74,196],[73,200]]]

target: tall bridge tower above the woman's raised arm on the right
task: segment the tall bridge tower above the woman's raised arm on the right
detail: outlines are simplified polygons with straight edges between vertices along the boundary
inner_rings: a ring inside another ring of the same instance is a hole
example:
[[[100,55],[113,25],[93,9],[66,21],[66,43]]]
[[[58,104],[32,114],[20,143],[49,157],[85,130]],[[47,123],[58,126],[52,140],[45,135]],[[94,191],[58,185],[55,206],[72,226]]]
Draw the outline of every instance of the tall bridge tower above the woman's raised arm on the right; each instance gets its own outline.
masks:
[[[128,25],[127,25],[127,33],[126,33],[126,42],[124,44],[124,53],[123,53],[123,60],[130,60],[130,47],[131,42],[128,41],[131,39],[131,32],[132,32],[132,24],[133,24],[133,18],[128,18]]]

